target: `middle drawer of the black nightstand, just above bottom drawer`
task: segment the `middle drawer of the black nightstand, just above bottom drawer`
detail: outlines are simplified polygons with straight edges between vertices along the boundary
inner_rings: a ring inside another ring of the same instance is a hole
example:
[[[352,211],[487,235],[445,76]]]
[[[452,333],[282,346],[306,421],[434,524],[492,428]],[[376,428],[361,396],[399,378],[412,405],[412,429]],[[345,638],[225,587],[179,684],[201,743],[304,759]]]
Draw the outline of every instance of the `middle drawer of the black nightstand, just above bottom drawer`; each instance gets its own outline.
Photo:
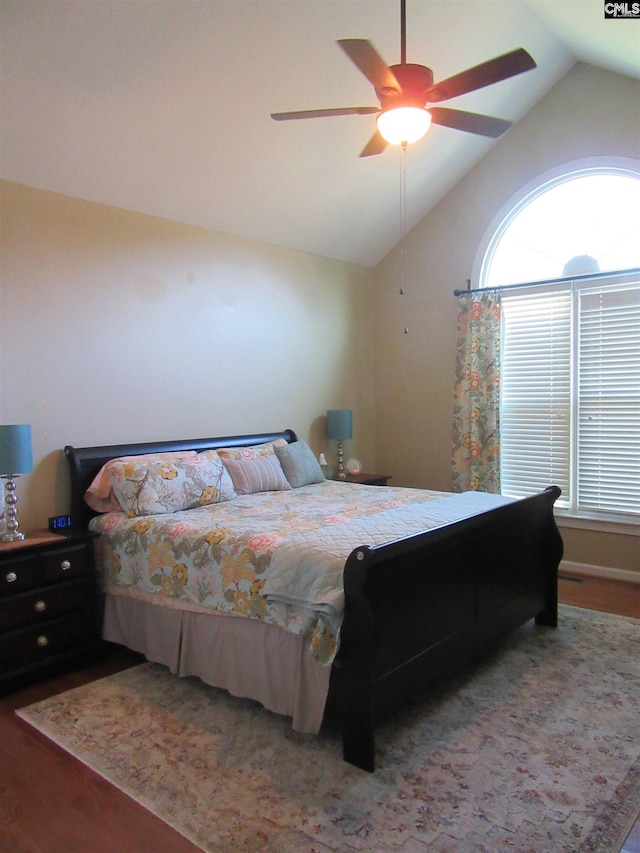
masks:
[[[45,587],[4,601],[0,599],[0,632],[49,622],[66,613],[82,610],[94,599],[92,579]]]

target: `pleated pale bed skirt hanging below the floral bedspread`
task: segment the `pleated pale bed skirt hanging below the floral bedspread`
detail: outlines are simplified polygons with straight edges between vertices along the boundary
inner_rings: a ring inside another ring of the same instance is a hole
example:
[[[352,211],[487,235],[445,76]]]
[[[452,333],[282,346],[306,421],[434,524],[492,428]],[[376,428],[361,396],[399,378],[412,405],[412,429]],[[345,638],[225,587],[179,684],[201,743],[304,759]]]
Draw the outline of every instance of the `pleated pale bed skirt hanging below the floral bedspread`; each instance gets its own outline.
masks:
[[[175,675],[197,676],[292,717],[294,731],[320,730],[331,667],[311,656],[308,638],[255,619],[109,594],[102,636],[141,652]]]

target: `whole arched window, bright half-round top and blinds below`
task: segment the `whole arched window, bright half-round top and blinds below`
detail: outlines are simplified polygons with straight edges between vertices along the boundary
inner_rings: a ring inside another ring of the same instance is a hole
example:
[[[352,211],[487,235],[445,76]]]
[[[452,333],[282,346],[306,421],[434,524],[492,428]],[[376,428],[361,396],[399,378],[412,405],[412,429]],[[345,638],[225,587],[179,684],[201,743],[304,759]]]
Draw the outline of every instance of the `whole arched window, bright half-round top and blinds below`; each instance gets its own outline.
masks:
[[[476,266],[501,291],[502,492],[555,483],[571,516],[639,524],[640,164],[527,188]]]

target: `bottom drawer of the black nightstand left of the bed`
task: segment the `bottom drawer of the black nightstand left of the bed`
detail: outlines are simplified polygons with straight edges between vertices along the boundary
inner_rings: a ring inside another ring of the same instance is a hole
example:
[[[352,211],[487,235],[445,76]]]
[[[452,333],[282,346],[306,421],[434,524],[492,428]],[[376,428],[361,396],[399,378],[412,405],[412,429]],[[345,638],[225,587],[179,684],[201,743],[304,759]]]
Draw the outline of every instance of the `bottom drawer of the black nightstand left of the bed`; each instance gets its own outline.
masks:
[[[95,635],[93,607],[26,631],[5,634],[0,642],[0,675],[94,642]]]

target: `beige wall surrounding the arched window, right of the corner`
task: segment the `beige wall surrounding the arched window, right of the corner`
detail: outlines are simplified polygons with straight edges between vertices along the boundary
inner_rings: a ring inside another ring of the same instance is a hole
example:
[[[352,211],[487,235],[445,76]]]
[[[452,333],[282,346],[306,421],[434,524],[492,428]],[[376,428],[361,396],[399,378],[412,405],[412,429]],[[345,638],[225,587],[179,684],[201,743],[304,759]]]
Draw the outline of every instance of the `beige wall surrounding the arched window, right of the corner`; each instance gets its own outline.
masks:
[[[378,465],[394,483],[451,488],[456,288],[490,223],[526,184],[561,164],[640,157],[640,84],[578,64],[375,271]],[[407,162],[407,184],[411,182]],[[403,334],[405,318],[409,334]],[[640,572],[640,538],[566,531],[568,560]]]

